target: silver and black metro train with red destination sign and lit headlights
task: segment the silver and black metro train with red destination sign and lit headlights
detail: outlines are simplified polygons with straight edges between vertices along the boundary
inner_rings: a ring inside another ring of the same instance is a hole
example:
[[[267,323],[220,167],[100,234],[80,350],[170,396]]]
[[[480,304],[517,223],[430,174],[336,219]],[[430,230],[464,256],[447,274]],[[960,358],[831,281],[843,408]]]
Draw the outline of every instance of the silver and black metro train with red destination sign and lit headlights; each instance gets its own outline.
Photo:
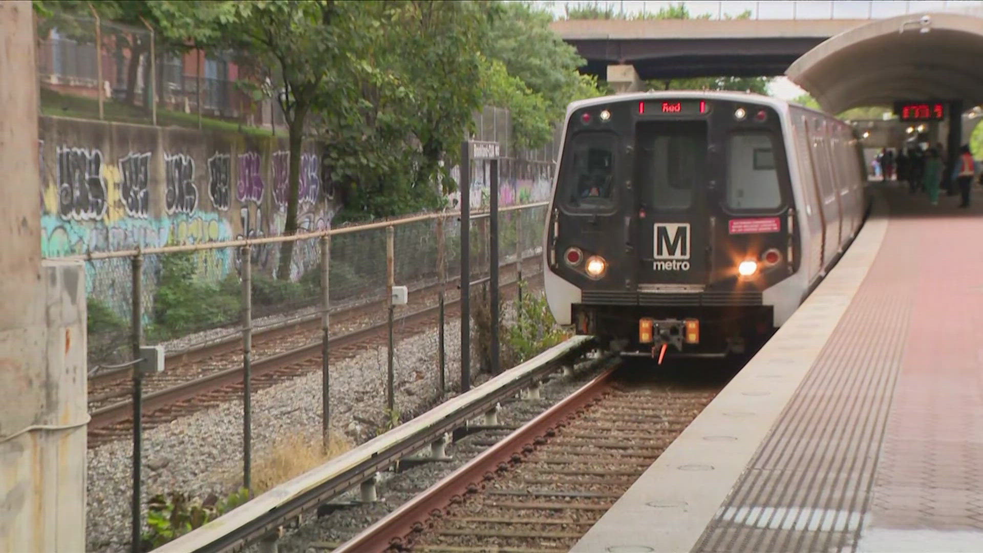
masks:
[[[545,232],[549,309],[623,355],[760,346],[869,207],[853,129],[742,92],[639,92],[567,108]]]

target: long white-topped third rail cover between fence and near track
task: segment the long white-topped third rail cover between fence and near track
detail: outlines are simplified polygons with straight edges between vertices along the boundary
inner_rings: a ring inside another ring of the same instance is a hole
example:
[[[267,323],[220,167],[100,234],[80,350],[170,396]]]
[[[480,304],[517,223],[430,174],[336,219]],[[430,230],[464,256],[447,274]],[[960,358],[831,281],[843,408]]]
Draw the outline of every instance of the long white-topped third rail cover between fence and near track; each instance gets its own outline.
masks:
[[[365,481],[399,459],[430,446],[445,433],[517,395],[556,367],[573,363],[594,347],[578,336],[554,345],[492,380],[449,399],[417,418],[320,467],[280,484],[233,510],[155,549],[156,553],[216,552],[245,547],[284,522]]]

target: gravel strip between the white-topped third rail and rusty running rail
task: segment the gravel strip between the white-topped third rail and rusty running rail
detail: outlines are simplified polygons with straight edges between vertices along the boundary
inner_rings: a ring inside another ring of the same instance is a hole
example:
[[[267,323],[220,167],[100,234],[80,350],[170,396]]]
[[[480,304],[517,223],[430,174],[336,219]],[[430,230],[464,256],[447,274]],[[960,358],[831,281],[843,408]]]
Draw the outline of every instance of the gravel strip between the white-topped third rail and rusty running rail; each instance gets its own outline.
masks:
[[[528,422],[550,405],[575,392],[601,370],[601,366],[595,366],[569,377],[554,374],[543,387],[542,399],[504,402],[498,414],[499,423],[519,426]],[[323,551],[354,537],[508,434],[508,431],[479,432],[447,446],[446,453],[452,458],[451,461],[431,462],[399,474],[383,475],[378,486],[378,502],[339,508],[317,521],[305,523],[278,542],[280,553]],[[339,498],[338,503],[357,499],[357,493],[357,490],[347,493]],[[258,548],[254,546],[250,550],[256,552]]]

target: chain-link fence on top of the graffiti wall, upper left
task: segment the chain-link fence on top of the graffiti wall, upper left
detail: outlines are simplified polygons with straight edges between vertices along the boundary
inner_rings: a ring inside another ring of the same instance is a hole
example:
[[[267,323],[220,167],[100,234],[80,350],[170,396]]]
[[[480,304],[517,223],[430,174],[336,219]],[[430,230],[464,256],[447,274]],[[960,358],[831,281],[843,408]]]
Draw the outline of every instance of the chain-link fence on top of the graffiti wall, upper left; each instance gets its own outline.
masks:
[[[275,101],[255,101],[239,82],[249,69],[228,56],[160,40],[147,27],[68,13],[52,4],[37,20],[41,109],[48,115],[187,124],[210,117],[283,127]]]

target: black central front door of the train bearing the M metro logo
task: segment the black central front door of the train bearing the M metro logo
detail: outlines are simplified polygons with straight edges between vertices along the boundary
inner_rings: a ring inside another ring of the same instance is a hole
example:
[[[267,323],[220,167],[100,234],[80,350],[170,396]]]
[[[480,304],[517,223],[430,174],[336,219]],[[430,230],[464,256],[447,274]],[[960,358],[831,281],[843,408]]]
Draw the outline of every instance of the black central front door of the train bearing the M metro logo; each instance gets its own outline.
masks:
[[[702,288],[712,231],[706,120],[642,121],[636,127],[634,191],[638,288]]]

